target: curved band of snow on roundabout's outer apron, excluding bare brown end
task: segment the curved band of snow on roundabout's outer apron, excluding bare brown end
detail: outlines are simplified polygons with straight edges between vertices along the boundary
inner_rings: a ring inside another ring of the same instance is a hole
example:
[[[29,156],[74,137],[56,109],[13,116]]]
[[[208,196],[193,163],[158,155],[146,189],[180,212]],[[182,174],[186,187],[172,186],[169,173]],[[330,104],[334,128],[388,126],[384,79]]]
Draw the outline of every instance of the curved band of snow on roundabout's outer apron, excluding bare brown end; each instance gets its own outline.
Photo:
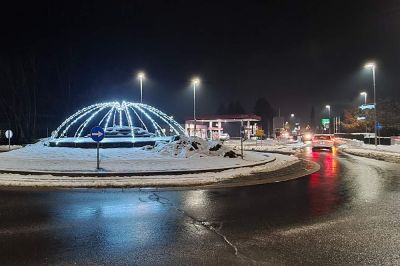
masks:
[[[292,166],[300,160],[294,156],[274,154],[276,160],[254,167],[243,167],[222,172],[201,174],[134,176],[134,177],[70,177],[51,175],[0,174],[2,186],[40,187],[149,187],[149,186],[195,186],[221,182],[253,173],[270,173]],[[213,159],[216,159],[215,157]],[[236,160],[236,159],[235,159]],[[193,161],[193,160],[192,160]]]

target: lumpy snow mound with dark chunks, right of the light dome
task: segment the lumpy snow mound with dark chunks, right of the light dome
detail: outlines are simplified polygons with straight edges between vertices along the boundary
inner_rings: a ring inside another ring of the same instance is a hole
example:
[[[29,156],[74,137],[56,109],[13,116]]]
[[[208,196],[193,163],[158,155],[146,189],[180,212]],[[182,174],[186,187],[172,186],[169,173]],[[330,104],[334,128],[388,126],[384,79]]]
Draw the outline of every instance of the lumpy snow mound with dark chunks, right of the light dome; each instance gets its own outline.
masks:
[[[199,137],[180,136],[170,143],[158,143],[154,151],[178,158],[224,156],[236,158],[236,153],[219,141],[207,141]]]

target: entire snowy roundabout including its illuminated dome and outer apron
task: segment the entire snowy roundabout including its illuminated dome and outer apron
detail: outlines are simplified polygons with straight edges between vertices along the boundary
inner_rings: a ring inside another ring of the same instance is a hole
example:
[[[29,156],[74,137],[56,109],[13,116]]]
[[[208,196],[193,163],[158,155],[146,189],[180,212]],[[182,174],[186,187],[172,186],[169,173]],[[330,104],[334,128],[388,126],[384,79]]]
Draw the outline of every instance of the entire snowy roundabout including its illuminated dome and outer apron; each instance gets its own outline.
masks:
[[[99,140],[93,138],[94,129]],[[150,105],[98,103],[69,116],[52,137],[1,153],[0,185],[241,186],[284,181],[318,170],[294,156],[246,151],[242,158],[239,154],[237,148],[220,141],[187,136],[172,116]],[[279,174],[282,171],[284,175]]]

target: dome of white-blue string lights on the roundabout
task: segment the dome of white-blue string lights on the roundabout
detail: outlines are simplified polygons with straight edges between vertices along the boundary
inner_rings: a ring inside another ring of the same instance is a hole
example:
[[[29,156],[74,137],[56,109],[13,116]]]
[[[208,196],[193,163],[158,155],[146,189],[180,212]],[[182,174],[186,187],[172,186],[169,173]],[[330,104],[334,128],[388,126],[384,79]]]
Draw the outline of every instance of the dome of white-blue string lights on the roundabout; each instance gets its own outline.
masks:
[[[105,130],[103,148],[141,147],[168,142],[185,129],[171,116],[150,105],[132,102],[97,103],[68,117],[52,134],[52,147],[94,148],[90,130],[101,126]]]

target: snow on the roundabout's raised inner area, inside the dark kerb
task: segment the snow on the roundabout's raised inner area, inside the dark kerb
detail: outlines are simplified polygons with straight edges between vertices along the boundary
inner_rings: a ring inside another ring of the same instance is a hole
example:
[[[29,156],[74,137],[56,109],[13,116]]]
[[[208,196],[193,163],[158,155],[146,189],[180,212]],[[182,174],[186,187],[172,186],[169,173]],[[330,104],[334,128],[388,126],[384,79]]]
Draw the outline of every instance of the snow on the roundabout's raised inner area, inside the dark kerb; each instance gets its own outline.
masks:
[[[48,147],[46,140],[24,148],[1,153],[0,169],[19,171],[95,172],[96,149]],[[218,169],[250,166],[274,159],[273,156],[251,153],[245,158],[224,157],[226,147],[220,143],[182,138],[158,145],[154,149],[100,149],[100,167],[105,172],[163,172]],[[197,148],[195,148],[196,146]]]

